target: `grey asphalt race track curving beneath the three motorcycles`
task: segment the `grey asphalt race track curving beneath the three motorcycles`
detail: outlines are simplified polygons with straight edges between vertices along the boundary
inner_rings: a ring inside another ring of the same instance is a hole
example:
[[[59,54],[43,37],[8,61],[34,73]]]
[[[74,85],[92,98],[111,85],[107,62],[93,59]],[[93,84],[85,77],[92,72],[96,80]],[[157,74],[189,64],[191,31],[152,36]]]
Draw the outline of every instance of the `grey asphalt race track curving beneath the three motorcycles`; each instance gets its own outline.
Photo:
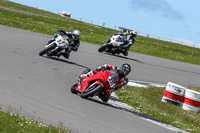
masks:
[[[55,31],[56,32],[56,31]],[[102,64],[132,65],[131,80],[200,86],[200,66],[137,53],[128,57],[98,53],[98,45],[82,42],[70,59],[40,57],[52,36],[0,25],[0,107],[47,124],[80,133],[171,133],[167,128],[95,99],[70,91],[86,68]]]

